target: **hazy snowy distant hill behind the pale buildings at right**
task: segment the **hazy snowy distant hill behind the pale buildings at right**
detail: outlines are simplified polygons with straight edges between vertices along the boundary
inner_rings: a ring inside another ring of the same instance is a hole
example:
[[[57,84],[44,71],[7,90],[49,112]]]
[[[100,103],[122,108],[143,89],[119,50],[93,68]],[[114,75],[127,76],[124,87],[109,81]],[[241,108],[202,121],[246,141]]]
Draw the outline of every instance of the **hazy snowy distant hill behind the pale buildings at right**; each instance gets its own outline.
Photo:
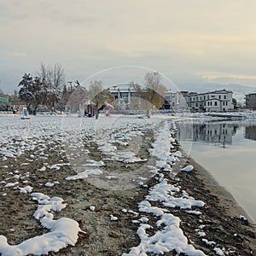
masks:
[[[245,86],[242,84],[218,84],[218,83],[203,83],[203,84],[183,84],[178,86],[178,90],[189,90],[196,92],[207,92],[211,90],[232,90],[236,101],[244,104],[245,95],[256,91],[256,88]]]

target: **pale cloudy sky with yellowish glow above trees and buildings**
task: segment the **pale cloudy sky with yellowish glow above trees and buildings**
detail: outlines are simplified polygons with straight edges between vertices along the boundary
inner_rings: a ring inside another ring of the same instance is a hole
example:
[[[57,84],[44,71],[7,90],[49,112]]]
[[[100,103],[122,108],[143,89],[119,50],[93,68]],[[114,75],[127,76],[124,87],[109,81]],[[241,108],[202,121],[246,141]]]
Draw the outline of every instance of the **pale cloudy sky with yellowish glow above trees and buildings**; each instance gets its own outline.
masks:
[[[67,81],[85,86],[143,83],[154,70],[177,88],[256,90],[255,9],[254,0],[0,0],[0,89],[59,63]]]

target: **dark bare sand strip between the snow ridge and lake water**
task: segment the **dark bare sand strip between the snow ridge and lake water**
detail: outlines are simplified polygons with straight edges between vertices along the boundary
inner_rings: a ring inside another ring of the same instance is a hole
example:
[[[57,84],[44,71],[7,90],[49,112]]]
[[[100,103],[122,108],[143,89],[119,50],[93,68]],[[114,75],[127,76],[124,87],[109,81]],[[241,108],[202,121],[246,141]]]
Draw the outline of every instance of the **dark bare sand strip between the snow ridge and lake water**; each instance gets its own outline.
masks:
[[[212,236],[214,239],[218,238],[218,244],[222,243],[225,248],[240,248],[241,254],[239,255],[255,255],[256,225],[253,219],[206,168],[191,157],[186,157],[185,165],[194,166],[194,170],[192,172],[178,172],[175,177],[180,178],[180,183],[185,186],[185,190],[189,191],[189,195],[206,203],[205,207],[202,208],[203,218],[207,224],[214,226],[213,229],[212,227],[207,229],[209,231],[207,236]],[[244,216],[246,219],[242,219],[240,216]],[[181,215],[180,218],[182,219],[182,217]],[[191,227],[183,226],[183,232],[188,239],[190,240],[192,237],[190,242],[195,243],[198,248],[205,249],[201,246],[201,241],[194,236],[194,230],[192,230]],[[238,234],[240,239],[236,240],[235,234]]]

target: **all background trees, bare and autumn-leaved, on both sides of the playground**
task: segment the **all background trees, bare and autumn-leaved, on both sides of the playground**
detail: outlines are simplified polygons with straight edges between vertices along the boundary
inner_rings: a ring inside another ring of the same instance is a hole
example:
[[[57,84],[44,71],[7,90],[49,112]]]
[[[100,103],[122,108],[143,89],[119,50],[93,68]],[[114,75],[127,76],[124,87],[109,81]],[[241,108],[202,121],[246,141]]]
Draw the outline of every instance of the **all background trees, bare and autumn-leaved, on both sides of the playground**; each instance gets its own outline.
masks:
[[[19,90],[9,96],[12,106],[26,105],[29,113],[37,113],[38,110],[47,111],[79,111],[81,104],[91,102],[96,110],[102,108],[105,102],[112,102],[115,108],[119,108],[119,102],[114,102],[114,96],[108,89],[103,89],[102,81],[91,81],[85,88],[79,83],[66,82],[65,71],[60,64],[46,66],[41,64],[36,76],[25,73],[18,84]],[[164,103],[166,87],[160,82],[160,73],[148,72],[144,77],[143,87],[131,82],[133,93],[132,103],[138,108],[146,109],[148,116],[154,109],[159,109]],[[113,86],[114,87],[114,86]],[[97,114],[96,114],[97,117]]]

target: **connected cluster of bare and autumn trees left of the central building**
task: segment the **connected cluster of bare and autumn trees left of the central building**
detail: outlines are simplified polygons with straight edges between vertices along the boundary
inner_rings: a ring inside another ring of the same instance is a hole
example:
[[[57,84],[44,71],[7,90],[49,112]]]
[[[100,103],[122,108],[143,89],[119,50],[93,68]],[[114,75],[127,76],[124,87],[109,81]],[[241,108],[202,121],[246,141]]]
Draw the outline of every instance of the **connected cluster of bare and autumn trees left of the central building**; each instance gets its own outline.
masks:
[[[103,90],[102,81],[90,82],[88,90],[79,84],[79,80],[74,85],[73,82],[66,83],[60,64],[46,67],[42,63],[37,76],[25,73],[18,86],[19,100],[30,113],[36,113],[38,108],[76,112],[82,102],[91,101],[96,108],[100,108],[104,102],[113,101],[109,90]]]

